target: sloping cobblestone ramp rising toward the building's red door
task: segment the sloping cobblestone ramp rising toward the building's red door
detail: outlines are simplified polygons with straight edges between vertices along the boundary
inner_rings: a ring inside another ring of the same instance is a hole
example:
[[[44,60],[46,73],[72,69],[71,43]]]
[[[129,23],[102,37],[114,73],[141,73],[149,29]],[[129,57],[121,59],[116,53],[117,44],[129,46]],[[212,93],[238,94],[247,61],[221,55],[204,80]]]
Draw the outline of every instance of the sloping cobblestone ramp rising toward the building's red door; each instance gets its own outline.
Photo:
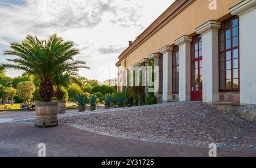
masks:
[[[256,150],[256,125],[202,102],[66,115],[59,122],[126,138]]]

